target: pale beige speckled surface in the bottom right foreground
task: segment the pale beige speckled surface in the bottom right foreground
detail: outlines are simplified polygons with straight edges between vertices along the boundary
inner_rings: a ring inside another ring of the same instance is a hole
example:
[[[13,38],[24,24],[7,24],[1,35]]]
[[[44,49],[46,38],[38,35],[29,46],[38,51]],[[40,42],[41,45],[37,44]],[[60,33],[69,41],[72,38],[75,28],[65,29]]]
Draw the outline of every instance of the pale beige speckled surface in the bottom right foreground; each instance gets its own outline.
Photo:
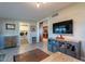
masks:
[[[65,53],[56,52],[41,62],[82,62],[82,61],[74,59],[70,55],[67,55]]]

